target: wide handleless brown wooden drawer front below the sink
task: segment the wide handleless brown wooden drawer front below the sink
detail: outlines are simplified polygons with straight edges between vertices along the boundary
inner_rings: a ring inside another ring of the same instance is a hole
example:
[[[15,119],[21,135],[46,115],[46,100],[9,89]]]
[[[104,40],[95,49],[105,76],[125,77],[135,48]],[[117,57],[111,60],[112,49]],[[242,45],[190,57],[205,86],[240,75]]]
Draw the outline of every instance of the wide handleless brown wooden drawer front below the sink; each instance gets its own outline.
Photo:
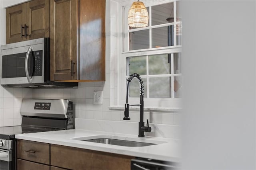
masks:
[[[51,165],[72,170],[130,170],[133,156],[51,145]]]

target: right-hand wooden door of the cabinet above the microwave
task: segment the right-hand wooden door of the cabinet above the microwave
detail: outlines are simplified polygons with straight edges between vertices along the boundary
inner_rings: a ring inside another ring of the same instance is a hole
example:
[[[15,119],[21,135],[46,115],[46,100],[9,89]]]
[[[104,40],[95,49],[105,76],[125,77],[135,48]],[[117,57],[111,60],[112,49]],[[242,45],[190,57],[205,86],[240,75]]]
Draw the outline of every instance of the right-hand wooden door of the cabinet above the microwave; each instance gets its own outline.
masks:
[[[28,39],[49,37],[49,0],[26,3],[26,33]]]

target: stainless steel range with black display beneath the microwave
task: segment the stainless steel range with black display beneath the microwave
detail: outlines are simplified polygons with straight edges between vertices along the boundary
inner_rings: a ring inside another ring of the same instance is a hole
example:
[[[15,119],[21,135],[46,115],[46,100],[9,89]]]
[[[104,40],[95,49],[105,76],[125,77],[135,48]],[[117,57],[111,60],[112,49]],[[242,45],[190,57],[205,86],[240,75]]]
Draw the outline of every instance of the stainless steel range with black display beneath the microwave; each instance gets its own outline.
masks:
[[[73,103],[64,99],[23,99],[20,126],[0,127],[0,170],[16,170],[15,135],[74,129]]]

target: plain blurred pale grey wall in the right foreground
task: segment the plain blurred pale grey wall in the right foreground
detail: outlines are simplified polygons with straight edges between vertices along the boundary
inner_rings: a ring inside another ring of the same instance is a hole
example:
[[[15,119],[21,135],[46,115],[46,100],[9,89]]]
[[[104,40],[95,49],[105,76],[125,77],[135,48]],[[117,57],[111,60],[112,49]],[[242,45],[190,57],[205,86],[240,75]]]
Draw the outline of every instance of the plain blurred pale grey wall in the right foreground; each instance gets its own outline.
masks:
[[[182,3],[183,169],[256,169],[256,1]]]

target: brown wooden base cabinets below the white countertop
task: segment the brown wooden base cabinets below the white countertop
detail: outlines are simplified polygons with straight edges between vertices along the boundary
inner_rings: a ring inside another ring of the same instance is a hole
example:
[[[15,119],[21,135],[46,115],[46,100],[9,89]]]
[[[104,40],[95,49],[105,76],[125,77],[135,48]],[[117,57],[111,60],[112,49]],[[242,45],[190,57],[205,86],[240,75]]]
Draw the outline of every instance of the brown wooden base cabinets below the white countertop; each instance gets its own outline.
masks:
[[[18,170],[130,170],[133,156],[18,140]]]

